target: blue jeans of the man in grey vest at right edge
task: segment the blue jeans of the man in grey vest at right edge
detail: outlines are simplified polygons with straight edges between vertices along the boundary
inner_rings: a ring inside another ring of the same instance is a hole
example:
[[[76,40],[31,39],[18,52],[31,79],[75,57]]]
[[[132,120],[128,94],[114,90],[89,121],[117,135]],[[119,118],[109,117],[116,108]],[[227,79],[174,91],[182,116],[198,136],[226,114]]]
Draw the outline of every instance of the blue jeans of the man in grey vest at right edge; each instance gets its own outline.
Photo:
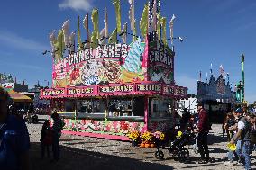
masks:
[[[244,158],[244,167],[246,170],[251,169],[251,157],[250,157],[250,140],[242,141],[242,157]]]

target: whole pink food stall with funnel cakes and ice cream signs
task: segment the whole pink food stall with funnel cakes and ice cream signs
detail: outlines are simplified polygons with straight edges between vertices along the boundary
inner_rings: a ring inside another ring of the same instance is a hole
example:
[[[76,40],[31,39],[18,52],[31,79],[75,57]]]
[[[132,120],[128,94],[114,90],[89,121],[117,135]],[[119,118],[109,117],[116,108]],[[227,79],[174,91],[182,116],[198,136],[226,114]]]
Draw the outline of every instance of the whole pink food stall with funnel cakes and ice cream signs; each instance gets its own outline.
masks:
[[[175,85],[174,56],[156,33],[131,44],[87,47],[53,62],[52,88],[41,90],[63,132],[129,140],[130,130],[169,130],[175,101],[187,88]]]

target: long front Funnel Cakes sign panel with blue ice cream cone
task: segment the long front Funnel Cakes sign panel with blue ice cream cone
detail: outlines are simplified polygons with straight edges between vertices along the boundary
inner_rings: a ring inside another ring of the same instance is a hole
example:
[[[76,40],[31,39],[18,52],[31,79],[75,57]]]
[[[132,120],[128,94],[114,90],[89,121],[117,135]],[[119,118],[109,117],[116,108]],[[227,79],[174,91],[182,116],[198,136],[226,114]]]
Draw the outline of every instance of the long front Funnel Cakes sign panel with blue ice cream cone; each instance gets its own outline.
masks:
[[[108,85],[144,81],[146,77],[145,42],[108,44],[84,49],[61,58],[53,66],[55,87]]]

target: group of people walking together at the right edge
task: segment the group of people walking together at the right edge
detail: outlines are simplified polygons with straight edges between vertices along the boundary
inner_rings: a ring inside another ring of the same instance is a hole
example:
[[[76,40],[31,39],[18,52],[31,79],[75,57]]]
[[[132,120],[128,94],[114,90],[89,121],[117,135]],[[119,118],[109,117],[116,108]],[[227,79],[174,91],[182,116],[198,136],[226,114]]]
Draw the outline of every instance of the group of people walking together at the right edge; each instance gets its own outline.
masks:
[[[227,134],[227,141],[235,144],[236,149],[229,151],[228,161],[224,163],[226,166],[242,165],[246,170],[251,169],[251,154],[256,144],[255,123],[255,112],[248,112],[246,107],[227,114],[224,132]]]

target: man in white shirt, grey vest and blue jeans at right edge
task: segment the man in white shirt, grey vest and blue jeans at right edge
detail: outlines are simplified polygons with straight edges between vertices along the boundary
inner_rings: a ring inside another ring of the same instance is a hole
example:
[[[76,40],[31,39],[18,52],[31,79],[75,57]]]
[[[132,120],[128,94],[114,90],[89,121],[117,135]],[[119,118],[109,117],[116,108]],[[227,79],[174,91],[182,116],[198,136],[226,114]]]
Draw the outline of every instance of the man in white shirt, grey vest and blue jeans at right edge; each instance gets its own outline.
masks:
[[[256,116],[254,114],[249,113],[247,116],[242,117],[242,119],[238,122],[238,131],[230,141],[231,144],[234,144],[236,140],[240,141],[237,148],[241,148],[241,160],[246,170],[251,169],[251,124],[254,124],[255,122]]]

